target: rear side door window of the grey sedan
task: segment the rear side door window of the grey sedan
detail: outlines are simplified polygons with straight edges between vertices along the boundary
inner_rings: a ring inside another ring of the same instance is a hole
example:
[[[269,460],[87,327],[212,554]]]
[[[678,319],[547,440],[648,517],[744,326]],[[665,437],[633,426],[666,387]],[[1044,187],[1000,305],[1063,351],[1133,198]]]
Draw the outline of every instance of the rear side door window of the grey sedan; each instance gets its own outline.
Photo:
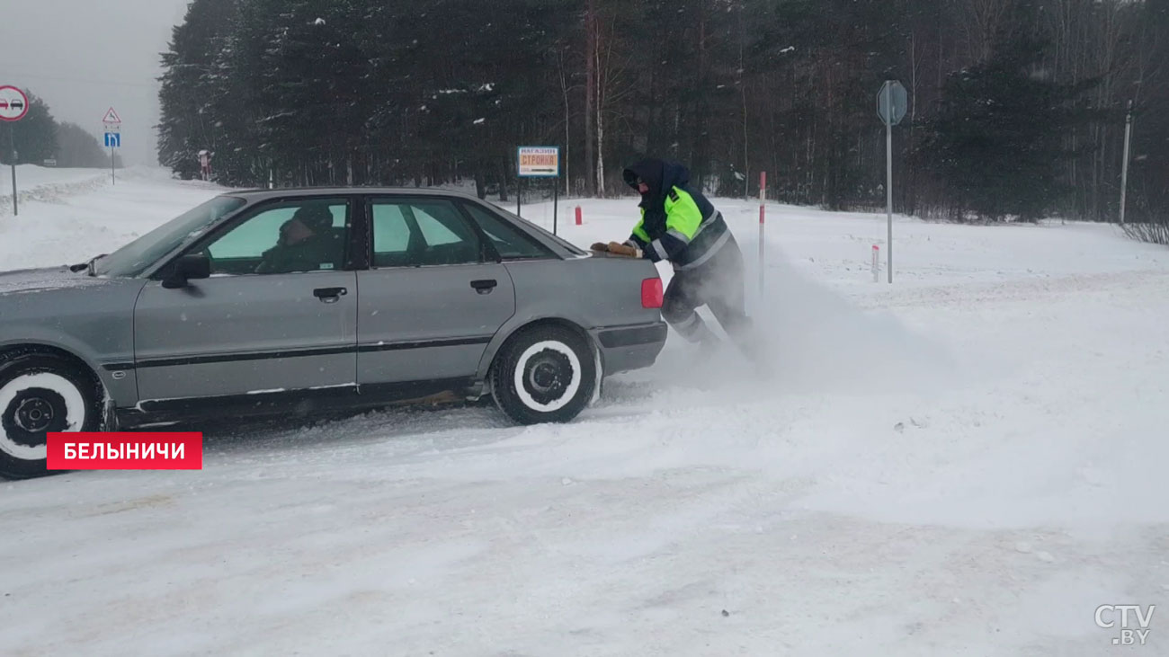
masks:
[[[375,199],[373,267],[427,267],[480,262],[482,248],[458,208],[445,200]]]

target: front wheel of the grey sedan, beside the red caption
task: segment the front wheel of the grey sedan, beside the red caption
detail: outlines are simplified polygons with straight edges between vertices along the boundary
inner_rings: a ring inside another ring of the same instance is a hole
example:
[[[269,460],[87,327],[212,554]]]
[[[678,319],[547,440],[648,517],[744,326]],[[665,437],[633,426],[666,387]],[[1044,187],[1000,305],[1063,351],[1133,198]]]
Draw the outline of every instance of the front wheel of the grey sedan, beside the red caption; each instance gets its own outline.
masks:
[[[96,431],[99,393],[72,361],[51,353],[0,354],[0,476],[46,475],[50,431]]]

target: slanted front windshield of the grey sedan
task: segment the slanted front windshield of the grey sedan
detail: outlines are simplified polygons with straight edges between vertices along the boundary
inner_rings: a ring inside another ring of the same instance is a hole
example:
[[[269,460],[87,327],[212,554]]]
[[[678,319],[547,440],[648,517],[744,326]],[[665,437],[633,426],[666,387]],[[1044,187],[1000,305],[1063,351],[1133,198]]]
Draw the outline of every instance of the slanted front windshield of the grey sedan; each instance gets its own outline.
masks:
[[[243,205],[243,199],[216,196],[102,257],[94,263],[94,274],[116,277],[138,276],[160,257],[193,242],[226,214]]]

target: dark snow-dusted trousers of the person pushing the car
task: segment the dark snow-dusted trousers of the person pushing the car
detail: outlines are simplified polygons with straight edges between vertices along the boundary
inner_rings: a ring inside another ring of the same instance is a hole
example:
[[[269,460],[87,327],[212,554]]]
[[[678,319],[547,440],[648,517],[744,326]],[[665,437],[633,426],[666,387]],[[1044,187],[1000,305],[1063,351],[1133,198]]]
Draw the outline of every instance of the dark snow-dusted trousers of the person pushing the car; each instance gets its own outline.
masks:
[[[691,343],[713,343],[718,337],[696,309],[708,306],[740,347],[750,339],[750,319],[743,299],[742,251],[734,236],[711,260],[693,269],[673,272],[662,304],[662,318]]]

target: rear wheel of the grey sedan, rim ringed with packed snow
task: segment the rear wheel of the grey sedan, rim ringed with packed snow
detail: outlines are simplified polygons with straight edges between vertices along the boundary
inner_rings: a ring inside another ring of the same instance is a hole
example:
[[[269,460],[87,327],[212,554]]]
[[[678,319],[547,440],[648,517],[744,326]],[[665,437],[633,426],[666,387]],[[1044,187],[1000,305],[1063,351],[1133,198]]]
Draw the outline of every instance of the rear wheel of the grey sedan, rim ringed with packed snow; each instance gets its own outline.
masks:
[[[520,424],[567,422],[593,399],[596,360],[575,331],[527,328],[504,346],[491,372],[496,403]]]

